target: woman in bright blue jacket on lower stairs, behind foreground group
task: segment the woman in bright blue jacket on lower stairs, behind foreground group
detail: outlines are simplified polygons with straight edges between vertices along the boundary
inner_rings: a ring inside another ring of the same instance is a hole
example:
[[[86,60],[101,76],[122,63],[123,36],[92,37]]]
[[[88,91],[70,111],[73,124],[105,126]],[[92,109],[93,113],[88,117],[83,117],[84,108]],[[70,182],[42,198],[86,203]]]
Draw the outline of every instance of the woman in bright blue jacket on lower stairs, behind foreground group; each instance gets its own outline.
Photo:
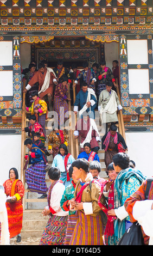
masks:
[[[97,160],[98,162],[100,162],[99,156],[97,155],[97,153],[91,150],[91,144],[88,142],[84,144],[84,151],[78,155],[78,159],[79,158],[85,158],[89,162],[93,160]]]

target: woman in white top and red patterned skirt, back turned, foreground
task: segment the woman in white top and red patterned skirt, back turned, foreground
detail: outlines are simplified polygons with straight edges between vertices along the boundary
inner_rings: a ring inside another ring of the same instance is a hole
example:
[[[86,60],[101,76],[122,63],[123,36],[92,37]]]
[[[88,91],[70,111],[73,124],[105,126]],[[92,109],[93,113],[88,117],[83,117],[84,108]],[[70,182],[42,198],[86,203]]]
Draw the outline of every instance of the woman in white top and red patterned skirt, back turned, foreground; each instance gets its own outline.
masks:
[[[48,177],[51,182],[48,188],[48,206],[42,211],[43,216],[49,215],[49,221],[43,231],[39,245],[63,245],[67,227],[67,211],[63,211],[60,201],[65,186],[60,181],[60,169],[50,168]]]

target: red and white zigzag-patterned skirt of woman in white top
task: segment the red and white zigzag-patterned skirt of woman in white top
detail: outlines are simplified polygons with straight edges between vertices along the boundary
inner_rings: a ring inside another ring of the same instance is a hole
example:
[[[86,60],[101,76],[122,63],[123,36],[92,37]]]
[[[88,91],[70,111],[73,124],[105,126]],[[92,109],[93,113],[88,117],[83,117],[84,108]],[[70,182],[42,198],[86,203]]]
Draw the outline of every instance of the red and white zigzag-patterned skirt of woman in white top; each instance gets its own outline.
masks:
[[[63,245],[67,216],[52,215],[43,231],[39,245]]]

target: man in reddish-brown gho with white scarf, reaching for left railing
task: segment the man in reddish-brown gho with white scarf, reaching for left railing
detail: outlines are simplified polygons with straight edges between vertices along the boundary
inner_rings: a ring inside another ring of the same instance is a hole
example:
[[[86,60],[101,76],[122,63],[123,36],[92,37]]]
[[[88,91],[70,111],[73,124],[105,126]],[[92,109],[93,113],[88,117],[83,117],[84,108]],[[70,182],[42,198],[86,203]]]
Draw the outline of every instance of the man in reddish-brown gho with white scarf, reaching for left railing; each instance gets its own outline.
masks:
[[[36,82],[39,82],[39,97],[44,100],[47,96],[49,110],[52,110],[52,97],[54,83],[57,83],[56,75],[51,68],[46,68],[44,63],[39,64],[39,70],[35,73],[33,78],[29,81],[23,93],[26,93]]]

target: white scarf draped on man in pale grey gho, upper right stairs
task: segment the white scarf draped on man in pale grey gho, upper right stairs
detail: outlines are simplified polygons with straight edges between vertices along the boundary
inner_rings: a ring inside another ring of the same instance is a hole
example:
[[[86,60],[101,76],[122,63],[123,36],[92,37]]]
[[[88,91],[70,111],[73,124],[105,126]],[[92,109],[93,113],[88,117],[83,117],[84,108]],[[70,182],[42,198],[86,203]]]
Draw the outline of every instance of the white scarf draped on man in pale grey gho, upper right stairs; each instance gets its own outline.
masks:
[[[102,121],[102,115],[103,113],[107,114],[113,114],[117,111],[117,102],[116,102],[116,97],[115,97],[115,92],[111,90],[111,97],[105,108],[103,108],[103,102],[101,102],[100,105],[100,117]]]

